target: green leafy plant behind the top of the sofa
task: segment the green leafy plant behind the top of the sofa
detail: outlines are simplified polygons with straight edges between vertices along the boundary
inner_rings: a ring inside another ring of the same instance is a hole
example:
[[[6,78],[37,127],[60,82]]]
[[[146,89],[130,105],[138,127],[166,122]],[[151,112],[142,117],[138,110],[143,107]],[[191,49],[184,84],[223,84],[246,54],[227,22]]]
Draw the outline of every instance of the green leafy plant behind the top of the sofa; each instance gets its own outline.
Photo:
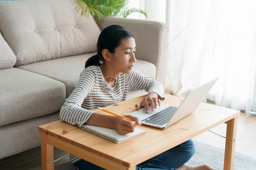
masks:
[[[145,11],[128,7],[129,0],[72,0],[76,10],[81,10],[82,15],[92,15],[97,20],[104,16],[127,17],[131,13],[139,12],[147,17]]]

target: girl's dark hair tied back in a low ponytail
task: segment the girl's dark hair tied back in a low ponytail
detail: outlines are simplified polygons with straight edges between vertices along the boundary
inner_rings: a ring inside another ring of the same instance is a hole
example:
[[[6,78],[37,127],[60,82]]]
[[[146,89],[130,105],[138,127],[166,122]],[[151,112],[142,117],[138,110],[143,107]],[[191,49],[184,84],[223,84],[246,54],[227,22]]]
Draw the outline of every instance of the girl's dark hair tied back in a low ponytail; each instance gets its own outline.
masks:
[[[86,61],[85,68],[91,65],[102,65],[104,61],[102,50],[107,49],[110,53],[114,53],[115,49],[121,45],[121,41],[129,37],[134,38],[133,33],[120,25],[110,25],[103,29],[97,42],[97,54]]]

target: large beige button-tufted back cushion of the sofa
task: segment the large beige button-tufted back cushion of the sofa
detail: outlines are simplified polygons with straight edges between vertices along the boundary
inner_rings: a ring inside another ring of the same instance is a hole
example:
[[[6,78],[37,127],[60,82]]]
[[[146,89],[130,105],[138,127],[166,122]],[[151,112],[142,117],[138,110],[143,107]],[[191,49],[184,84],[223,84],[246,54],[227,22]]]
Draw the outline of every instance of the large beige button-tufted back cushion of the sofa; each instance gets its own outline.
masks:
[[[0,32],[17,57],[15,65],[96,51],[101,31],[71,0],[9,0],[0,7]]]

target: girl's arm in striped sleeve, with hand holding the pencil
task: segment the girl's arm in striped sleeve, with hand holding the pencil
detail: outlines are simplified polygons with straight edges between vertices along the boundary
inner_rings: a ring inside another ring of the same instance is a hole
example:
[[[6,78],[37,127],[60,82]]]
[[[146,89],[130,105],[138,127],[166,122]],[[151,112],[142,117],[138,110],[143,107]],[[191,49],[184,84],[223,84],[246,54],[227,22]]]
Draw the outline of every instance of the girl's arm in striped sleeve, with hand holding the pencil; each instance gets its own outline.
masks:
[[[67,98],[60,110],[61,120],[80,128],[84,124],[108,127],[117,130],[120,134],[133,132],[136,125],[140,125],[138,118],[127,116],[134,121],[121,119],[113,115],[97,114],[81,107],[85,98],[90,95],[95,85],[95,75],[90,70],[83,71],[75,90]]]

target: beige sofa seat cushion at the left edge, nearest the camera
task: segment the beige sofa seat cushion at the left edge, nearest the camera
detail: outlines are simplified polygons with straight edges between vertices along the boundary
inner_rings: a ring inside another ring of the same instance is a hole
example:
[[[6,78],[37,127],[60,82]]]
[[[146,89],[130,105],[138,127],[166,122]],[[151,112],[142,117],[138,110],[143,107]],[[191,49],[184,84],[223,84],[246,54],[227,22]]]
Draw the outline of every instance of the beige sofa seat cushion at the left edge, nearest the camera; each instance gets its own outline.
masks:
[[[65,85],[26,70],[0,70],[0,125],[7,125],[61,109]]]

